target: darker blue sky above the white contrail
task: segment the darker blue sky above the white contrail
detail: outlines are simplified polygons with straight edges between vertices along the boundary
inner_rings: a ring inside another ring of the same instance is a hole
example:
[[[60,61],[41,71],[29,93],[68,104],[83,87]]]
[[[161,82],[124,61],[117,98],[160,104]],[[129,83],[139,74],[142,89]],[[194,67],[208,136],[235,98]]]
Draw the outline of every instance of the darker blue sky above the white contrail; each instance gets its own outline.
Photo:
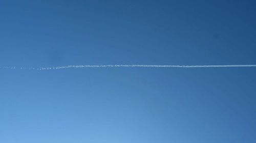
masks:
[[[1,64],[251,64],[254,1],[1,2]]]

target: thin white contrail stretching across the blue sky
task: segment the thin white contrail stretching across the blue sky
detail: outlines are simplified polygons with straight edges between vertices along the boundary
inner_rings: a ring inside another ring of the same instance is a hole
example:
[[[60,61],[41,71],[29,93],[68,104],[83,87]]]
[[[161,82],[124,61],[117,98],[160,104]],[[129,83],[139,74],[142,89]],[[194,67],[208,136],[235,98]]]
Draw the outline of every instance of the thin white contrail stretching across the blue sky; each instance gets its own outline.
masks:
[[[29,69],[29,70],[56,70],[67,68],[121,68],[121,67],[141,67],[141,68],[227,68],[227,67],[256,67],[256,65],[69,65],[58,67],[0,67],[0,69]]]

